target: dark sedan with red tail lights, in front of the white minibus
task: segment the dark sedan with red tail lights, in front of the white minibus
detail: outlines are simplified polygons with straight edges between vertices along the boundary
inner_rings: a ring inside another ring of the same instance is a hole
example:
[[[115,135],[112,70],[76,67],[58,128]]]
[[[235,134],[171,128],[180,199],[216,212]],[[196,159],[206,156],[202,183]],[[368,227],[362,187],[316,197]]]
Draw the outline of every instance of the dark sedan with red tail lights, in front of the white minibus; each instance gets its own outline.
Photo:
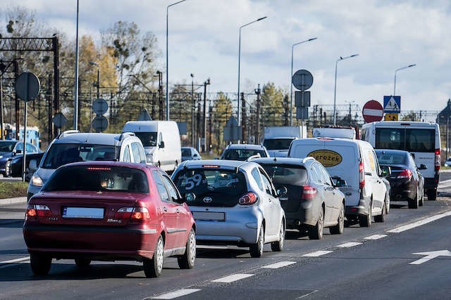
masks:
[[[376,149],[381,167],[390,167],[390,201],[407,201],[409,209],[417,209],[424,203],[424,177],[420,170],[426,164],[416,167],[412,154],[402,150]]]

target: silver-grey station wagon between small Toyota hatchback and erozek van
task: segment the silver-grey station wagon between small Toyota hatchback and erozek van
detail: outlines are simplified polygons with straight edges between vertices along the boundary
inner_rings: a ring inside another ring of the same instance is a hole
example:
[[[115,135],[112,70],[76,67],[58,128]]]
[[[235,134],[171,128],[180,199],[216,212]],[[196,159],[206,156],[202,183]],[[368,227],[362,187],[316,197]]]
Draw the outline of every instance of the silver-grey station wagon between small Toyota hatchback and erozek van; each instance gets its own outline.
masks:
[[[345,181],[333,183],[328,171],[313,157],[258,158],[252,160],[263,167],[276,189],[285,189],[279,197],[285,210],[287,228],[307,229],[311,240],[323,238],[323,228],[342,234],[345,228],[345,194],[338,190]]]

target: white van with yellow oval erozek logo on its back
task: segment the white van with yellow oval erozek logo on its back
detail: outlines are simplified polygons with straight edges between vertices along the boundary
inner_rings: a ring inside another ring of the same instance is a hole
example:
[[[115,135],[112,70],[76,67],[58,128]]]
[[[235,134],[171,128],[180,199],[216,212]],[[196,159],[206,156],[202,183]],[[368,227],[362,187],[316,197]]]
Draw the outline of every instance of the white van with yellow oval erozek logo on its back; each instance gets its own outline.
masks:
[[[371,226],[385,221],[390,207],[387,186],[373,147],[365,141],[349,138],[301,138],[292,141],[288,157],[314,157],[326,167],[330,176],[340,177],[346,185],[345,215],[348,221]]]

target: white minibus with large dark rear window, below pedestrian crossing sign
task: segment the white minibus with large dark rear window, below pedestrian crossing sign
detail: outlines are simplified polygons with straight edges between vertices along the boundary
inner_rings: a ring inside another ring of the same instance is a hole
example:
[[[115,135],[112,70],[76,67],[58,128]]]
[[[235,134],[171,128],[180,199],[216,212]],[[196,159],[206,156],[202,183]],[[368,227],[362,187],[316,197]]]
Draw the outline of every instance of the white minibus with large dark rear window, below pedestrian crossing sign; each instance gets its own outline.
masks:
[[[362,126],[362,140],[376,149],[395,149],[411,152],[424,177],[424,191],[428,200],[437,198],[440,175],[440,129],[436,123],[383,121]]]

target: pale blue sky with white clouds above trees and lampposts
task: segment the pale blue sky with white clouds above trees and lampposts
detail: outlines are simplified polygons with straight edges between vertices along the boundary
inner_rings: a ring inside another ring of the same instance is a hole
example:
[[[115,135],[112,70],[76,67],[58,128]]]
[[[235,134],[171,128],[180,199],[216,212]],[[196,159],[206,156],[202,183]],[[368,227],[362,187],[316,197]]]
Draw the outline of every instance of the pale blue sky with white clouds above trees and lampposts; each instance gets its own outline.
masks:
[[[166,72],[166,7],[175,0],[79,1],[80,36],[98,40],[118,20],[135,22],[155,34]],[[32,8],[75,41],[76,0],[2,4]],[[293,72],[314,77],[311,105],[332,105],[334,95],[337,105],[383,104],[394,93],[395,73],[402,112],[442,110],[451,97],[449,0],[186,0],[168,11],[170,85],[190,83],[194,74],[194,84],[211,79],[209,92],[237,93],[240,27],[266,16],[242,27],[240,91],[253,93],[268,82],[288,91],[293,63]],[[353,54],[359,56],[339,60]]]

